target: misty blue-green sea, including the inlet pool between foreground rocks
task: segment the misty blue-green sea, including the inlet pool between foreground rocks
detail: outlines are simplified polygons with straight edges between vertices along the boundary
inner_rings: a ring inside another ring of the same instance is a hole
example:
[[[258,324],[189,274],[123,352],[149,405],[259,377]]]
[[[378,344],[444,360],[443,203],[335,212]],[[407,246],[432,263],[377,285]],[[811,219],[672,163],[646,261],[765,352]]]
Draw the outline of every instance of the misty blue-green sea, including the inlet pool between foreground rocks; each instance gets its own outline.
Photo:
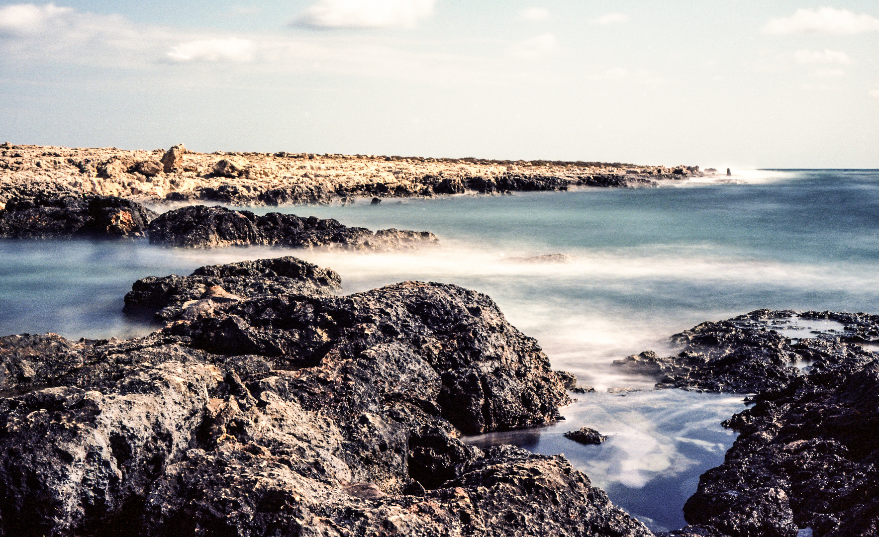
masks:
[[[465,440],[565,454],[614,503],[668,531],[686,525],[681,507],[699,475],[722,463],[736,439],[721,422],[745,409],[745,394],[656,390],[653,380],[616,371],[614,359],[672,354],[672,334],[757,308],[879,313],[876,170],[738,171],[658,188],[250,210],[429,230],[440,246],[367,254],[0,241],[0,335],[143,335],[156,327],[121,311],[135,279],[283,255],[333,268],[345,294],[409,279],[476,289],[537,338],[554,368],[595,391],[572,394],[556,424]],[[549,254],[562,256],[527,259]],[[607,441],[564,438],[582,426]]]

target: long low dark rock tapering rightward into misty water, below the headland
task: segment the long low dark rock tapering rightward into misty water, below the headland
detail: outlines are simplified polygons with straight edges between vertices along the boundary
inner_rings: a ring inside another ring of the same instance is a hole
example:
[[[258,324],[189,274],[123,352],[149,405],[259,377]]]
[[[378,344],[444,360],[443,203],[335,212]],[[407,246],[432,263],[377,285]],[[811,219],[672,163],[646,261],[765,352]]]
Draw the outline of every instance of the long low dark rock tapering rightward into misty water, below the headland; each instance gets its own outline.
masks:
[[[285,246],[331,250],[414,250],[439,243],[429,231],[349,228],[336,220],[203,205],[168,211],[149,225],[149,242],[188,248]]]

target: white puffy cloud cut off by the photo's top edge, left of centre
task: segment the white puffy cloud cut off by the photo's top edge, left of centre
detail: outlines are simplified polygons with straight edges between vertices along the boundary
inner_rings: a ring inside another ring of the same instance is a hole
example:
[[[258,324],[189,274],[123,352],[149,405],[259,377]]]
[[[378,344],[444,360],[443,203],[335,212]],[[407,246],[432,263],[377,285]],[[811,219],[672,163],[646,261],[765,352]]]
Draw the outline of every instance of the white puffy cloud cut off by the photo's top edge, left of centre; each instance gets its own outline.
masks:
[[[293,24],[312,28],[414,27],[436,0],[318,0]]]

